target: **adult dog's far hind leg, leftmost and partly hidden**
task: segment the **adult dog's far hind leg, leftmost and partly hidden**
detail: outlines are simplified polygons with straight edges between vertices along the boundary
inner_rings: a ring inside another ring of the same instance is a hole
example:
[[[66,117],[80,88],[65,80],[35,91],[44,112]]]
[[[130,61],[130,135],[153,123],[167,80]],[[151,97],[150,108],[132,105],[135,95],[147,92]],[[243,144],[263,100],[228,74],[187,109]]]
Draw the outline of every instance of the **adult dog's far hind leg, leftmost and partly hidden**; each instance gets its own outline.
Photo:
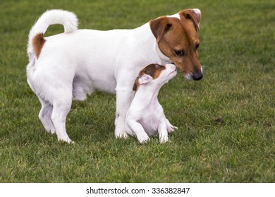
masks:
[[[44,101],[42,98],[39,98],[39,101],[42,105],[42,108],[39,112],[39,120],[42,122],[42,125],[46,129],[47,132],[54,134],[55,129],[54,125],[51,122],[51,113],[53,110],[53,106],[51,103]]]

